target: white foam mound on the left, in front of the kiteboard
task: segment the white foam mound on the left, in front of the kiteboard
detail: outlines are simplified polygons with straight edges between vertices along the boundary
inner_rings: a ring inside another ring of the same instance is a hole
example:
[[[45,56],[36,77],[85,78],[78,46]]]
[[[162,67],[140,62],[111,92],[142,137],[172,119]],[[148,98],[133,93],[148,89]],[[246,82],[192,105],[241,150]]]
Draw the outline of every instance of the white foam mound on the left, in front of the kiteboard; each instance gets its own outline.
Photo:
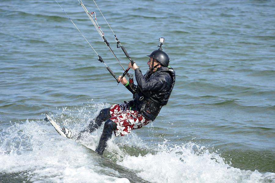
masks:
[[[4,131],[0,136],[0,172],[27,172],[24,175],[32,182],[130,182],[118,178],[111,168],[93,164],[86,148],[62,138],[43,122],[27,120]]]

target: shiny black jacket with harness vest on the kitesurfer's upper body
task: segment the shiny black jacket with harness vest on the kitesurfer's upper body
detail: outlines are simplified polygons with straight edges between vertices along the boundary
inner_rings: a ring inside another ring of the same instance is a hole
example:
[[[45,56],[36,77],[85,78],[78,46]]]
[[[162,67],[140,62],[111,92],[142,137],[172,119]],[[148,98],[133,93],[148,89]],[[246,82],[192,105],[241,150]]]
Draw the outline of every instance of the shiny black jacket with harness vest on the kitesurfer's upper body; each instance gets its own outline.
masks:
[[[135,69],[138,85],[126,86],[133,93],[130,110],[139,111],[147,120],[155,120],[163,105],[171,95],[175,83],[175,72],[171,67],[160,67],[155,73],[143,76],[141,70]]]

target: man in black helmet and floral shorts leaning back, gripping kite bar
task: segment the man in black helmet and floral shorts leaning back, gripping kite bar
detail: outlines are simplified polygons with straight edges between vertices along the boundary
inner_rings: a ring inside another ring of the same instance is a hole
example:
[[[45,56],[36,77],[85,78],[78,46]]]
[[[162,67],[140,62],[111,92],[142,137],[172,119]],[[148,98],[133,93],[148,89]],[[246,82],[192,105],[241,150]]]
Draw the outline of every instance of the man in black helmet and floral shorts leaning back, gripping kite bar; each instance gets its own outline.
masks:
[[[147,55],[149,70],[142,75],[136,63],[128,64],[129,68],[135,71],[137,84],[129,83],[125,77],[118,77],[121,82],[132,94],[133,100],[114,104],[109,108],[102,109],[90,124],[77,136],[73,136],[70,130],[63,128],[68,138],[81,138],[83,132],[93,132],[99,128],[103,122],[104,128],[96,148],[96,152],[103,154],[107,146],[108,139],[112,132],[116,136],[123,136],[130,133],[133,129],[141,128],[149,122],[154,121],[163,105],[171,95],[175,83],[174,69],[169,66],[169,56],[162,51],[161,46],[158,50]]]

